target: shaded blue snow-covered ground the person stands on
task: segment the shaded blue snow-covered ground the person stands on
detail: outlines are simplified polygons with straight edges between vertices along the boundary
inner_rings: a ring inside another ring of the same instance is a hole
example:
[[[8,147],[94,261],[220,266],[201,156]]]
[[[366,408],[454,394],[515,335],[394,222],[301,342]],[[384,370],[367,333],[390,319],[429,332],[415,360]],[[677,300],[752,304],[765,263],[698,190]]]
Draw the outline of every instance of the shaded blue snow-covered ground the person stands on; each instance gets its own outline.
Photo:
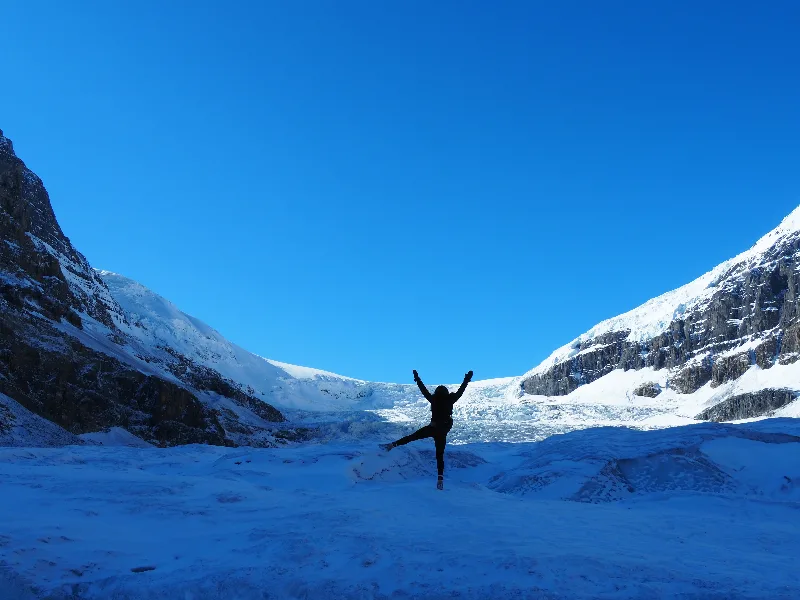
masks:
[[[434,469],[429,441],[0,449],[0,598],[800,597],[794,419],[452,445],[444,492]]]

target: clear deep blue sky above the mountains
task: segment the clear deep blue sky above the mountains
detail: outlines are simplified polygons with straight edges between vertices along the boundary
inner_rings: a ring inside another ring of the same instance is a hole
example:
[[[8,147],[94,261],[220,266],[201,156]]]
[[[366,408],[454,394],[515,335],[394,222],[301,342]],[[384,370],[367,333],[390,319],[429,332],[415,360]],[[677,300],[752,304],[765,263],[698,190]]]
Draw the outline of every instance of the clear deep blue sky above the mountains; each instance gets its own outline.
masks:
[[[92,265],[245,348],[518,375],[800,203],[800,3],[8,2],[0,128]]]

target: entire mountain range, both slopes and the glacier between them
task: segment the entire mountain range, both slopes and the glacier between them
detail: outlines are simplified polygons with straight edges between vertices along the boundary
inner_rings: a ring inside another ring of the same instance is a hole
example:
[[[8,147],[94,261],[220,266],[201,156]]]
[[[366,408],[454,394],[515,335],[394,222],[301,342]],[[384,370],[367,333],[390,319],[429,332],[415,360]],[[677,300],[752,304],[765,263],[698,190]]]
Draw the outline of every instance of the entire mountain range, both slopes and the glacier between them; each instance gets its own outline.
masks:
[[[71,434],[274,445],[385,436],[387,424],[426,418],[414,385],[262,358],[141,284],[91,268],[2,133],[0,240],[0,394]],[[596,325],[528,373],[474,382],[451,439],[795,416],[799,253],[800,208],[750,250]]]

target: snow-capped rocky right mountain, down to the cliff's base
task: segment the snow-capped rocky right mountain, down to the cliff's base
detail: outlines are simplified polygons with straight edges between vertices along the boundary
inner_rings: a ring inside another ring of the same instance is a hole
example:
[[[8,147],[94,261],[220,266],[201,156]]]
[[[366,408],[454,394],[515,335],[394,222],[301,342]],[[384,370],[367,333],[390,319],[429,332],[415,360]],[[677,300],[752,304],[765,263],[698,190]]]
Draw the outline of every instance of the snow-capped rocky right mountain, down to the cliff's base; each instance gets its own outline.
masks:
[[[666,367],[672,387],[693,393],[752,364],[794,362],[800,333],[790,290],[800,285],[798,252],[800,207],[749,250],[557,349],[523,376],[524,389],[564,395],[615,369]]]

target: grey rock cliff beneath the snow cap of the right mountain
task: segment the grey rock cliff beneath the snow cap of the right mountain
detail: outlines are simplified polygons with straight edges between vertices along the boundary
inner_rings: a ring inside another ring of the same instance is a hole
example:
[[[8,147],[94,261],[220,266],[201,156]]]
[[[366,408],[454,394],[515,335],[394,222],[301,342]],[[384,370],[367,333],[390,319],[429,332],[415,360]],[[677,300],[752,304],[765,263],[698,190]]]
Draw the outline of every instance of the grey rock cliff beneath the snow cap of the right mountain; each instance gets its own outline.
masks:
[[[561,396],[614,369],[672,369],[669,387],[692,393],[741,376],[751,365],[768,369],[800,355],[800,232],[776,237],[755,258],[732,263],[710,298],[646,341],[630,330],[599,335],[573,347],[573,355],[522,383],[528,394]],[[753,350],[718,356],[745,342]]]

